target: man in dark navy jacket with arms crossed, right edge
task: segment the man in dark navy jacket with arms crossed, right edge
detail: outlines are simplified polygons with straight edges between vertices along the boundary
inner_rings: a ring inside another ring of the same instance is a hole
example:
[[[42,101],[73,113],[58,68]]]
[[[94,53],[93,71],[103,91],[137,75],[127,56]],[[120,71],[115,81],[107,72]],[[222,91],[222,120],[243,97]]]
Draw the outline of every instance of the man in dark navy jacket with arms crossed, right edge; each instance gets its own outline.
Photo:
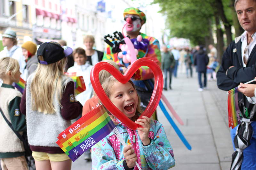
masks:
[[[256,76],[256,1],[255,0],[236,0],[235,10],[240,25],[245,32],[235,38],[228,46],[222,56],[222,63],[220,69],[217,72],[217,85],[221,90],[228,91],[239,85],[240,82],[248,82]],[[237,147],[237,140],[234,144],[234,138],[236,135],[236,129],[246,124],[244,130],[239,130],[240,133],[244,133],[251,129],[254,131],[252,139],[248,140],[246,146],[241,149],[236,149],[236,152],[244,156],[239,163],[236,163],[235,156],[238,154],[234,152],[232,155],[231,169],[255,169],[256,168],[256,114],[254,113],[255,102],[251,98],[245,97],[243,94],[238,92],[239,106],[242,105],[244,110],[248,111],[247,116],[244,116],[244,111],[240,109],[240,115],[243,115],[241,123],[234,129],[231,129],[231,137],[233,146]],[[247,113],[247,112],[246,112]],[[238,136],[236,136],[237,139]],[[238,140],[239,141],[239,140]],[[244,141],[244,139],[243,139]],[[241,143],[241,142],[240,142]],[[235,147],[234,147],[235,149]],[[242,165],[241,165],[242,164]]]

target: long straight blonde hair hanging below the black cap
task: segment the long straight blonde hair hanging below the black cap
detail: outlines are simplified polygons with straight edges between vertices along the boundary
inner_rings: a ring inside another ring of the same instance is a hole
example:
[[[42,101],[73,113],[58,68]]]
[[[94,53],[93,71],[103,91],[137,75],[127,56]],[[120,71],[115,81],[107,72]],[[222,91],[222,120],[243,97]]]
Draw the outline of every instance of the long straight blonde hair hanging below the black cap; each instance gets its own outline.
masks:
[[[39,55],[38,59],[44,61],[42,55]],[[55,95],[61,106],[62,76],[65,64],[66,57],[56,63],[38,65],[30,86],[32,110],[38,110],[44,114],[54,114],[58,109],[53,106]]]

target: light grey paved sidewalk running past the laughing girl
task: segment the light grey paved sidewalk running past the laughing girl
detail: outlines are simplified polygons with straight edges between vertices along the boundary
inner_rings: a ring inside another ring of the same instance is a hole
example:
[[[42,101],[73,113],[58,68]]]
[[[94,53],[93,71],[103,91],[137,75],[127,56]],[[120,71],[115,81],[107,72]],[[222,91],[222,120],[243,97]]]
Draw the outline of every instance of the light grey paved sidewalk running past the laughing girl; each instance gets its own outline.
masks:
[[[233,153],[228,128],[227,94],[218,89],[216,81],[207,82],[208,89],[198,92],[197,74],[186,78],[179,73],[172,79],[172,89],[163,91],[180,116],[176,125],[192,147],[189,151],[181,142],[163,112],[157,107],[158,120],[164,125],[172,145],[176,165],[172,170],[228,170]],[[166,107],[167,108],[167,107]],[[72,170],[91,169],[91,162],[81,156],[72,163]]]

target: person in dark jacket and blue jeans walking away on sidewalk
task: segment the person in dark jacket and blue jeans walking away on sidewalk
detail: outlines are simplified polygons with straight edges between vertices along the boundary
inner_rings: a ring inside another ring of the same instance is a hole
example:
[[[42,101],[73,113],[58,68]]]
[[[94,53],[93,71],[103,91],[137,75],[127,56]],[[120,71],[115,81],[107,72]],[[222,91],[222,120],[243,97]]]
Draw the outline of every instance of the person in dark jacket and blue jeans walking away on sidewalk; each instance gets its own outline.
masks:
[[[207,54],[204,52],[204,47],[200,46],[198,54],[195,58],[196,71],[198,72],[198,83],[200,88],[199,92],[203,91],[203,88],[206,88],[207,78],[206,78],[206,68],[209,63],[209,58]],[[204,74],[204,86],[202,84],[202,73]]]

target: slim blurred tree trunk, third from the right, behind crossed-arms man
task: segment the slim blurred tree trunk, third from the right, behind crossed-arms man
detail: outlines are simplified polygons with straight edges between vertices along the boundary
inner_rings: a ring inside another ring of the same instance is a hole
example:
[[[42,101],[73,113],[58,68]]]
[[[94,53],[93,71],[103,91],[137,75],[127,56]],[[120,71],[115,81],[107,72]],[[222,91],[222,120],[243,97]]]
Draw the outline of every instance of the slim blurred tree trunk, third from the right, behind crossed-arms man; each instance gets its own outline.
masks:
[[[218,51],[217,58],[218,58],[218,61],[221,62],[222,54],[223,54],[223,47],[224,47],[224,39],[223,39],[223,31],[220,28],[220,19],[219,19],[218,14],[216,14],[216,12],[215,12],[215,24],[216,24],[216,28],[217,28],[217,31],[216,31],[216,34],[217,34],[216,48]]]

